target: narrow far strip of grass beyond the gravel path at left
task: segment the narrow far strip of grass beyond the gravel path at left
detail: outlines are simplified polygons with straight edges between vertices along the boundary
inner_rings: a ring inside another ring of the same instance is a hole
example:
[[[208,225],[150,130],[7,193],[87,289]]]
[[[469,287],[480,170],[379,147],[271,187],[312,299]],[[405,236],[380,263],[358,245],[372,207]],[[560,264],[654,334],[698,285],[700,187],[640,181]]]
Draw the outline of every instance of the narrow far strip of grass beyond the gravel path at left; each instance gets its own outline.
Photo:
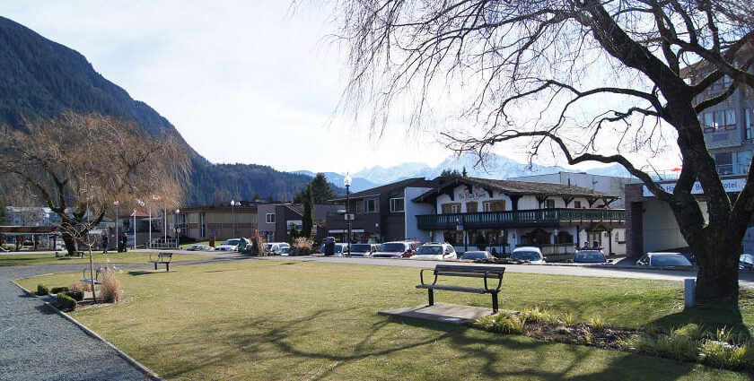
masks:
[[[212,255],[191,255],[174,253],[172,262],[197,261],[212,259]],[[149,253],[144,251],[129,251],[127,253],[111,252],[104,255],[101,251],[92,252],[92,260],[95,264],[147,264]],[[56,257],[55,253],[24,253],[24,254],[0,254],[0,266],[17,266],[22,264],[88,264],[89,254],[86,252],[83,258],[78,256]]]

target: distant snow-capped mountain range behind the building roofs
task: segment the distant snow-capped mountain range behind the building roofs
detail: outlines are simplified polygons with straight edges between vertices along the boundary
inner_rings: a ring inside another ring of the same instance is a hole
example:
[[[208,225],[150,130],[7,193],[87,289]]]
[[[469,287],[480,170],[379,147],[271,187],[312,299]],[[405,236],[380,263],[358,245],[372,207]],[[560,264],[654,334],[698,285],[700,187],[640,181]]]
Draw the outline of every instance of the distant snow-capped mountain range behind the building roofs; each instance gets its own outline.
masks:
[[[505,156],[495,154],[492,154],[487,158],[487,163],[484,167],[478,166],[475,168],[475,164],[477,164],[477,156],[473,153],[467,153],[461,156],[449,157],[435,167],[430,167],[425,163],[417,162],[408,162],[389,168],[374,166],[362,169],[351,175],[351,190],[353,192],[360,192],[374,186],[390,184],[406,178],[436,178],[440,176],[445,169],[455,169],[462,172],[465,168],[469,177],[495,179],[518,178],[522,176],[546,175],[563,171],[574,171],[573,169],[565,169],[558,166],[540,166],[536,164],[530,166],[529,164],[520,163],[506,158]],[[585,172],[591,173],[592,175],[614,176],[619,178],[631,177],[628,171],[618,164],[608,167],[587,169]],[[314,174],[307,170],[297,170],[292,173],[308,176],[313,176]],[[338,186],[343,184],[343,179],[346,177],[345,174],[336,172],[323,173],[330,183]]]

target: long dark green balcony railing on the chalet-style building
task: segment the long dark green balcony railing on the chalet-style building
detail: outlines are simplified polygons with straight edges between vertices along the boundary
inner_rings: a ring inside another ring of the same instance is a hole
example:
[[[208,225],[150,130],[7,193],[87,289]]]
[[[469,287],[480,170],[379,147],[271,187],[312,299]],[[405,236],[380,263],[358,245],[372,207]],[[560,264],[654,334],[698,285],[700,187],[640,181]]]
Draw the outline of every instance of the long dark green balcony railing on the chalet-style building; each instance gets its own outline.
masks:
[[[419,229],[507,228],[515,226],[550,226],[561,222],[626,221],[623,209],[533,209],[511,212],[425,214],[416,216]]]

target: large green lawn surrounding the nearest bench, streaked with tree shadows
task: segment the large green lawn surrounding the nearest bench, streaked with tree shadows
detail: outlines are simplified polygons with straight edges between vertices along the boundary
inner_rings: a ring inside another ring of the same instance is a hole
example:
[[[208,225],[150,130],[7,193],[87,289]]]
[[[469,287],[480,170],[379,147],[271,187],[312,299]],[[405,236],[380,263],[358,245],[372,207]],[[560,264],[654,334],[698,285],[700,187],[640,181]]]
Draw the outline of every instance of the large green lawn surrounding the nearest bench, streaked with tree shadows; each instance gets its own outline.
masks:
[[[20,281],[68,285],[79,274]],[[381,316],[426,303],[415,268],[249,260],[123,273],[125,300],[71,313],[169,379],[732,380],[750,375],[618,351],[540,342]],[[468,280],[469,282],[478,280]],[[682,312],[671,281],[506,273],[501,307],[548,307],[614,325],[752,325],[743,315]],[[489,307],[488,296],[436,301]]]

